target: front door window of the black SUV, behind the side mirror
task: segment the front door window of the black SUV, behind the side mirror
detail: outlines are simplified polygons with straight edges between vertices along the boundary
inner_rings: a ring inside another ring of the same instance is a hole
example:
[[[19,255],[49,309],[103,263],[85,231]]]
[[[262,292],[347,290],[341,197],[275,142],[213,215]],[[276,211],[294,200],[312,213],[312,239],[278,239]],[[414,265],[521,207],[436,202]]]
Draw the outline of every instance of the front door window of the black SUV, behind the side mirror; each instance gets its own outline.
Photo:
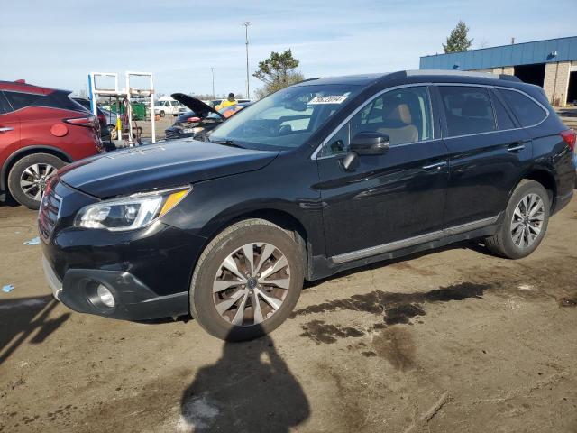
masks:
[[[320,157],[348,151],[355,134],[389,135],[390,145],[433,138],[431,101],[426,87],[399,88],[372,99],[325,144]]]

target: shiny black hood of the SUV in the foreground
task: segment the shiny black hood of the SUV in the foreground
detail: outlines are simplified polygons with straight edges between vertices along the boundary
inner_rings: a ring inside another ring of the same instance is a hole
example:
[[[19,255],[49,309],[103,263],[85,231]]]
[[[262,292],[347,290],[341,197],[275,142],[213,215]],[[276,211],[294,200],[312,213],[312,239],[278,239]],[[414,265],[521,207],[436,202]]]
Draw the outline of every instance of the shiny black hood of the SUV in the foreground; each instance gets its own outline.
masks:
[[[259,170],[278,154],[182,139],[73,162],[59,176],[74,189],[109,198]]]

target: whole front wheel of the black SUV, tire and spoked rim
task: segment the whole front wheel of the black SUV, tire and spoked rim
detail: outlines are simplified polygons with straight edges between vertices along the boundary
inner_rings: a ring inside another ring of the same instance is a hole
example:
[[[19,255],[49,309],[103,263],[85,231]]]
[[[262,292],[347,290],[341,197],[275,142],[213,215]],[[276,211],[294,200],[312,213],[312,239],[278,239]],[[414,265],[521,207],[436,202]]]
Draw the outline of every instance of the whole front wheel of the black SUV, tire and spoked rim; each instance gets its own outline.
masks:
[[[252,251],[253,266],[246,260],[244,251]],[[268,258],[260,263],[261,256]],[[282,257],[286,258],[286,265]],[[192,317],[206,332],[227,341],[246,341],[270,333],[289,318],[297,304],[304,281],[302,257],[294,235],[269,221],[247,219],[229,226],[215,236],[198,259],[190,284]],[[227,262],[229,268],[224,266],[224,261],[229,259],[241,275],[253,267],[252,275],[259,278],[245,278],[243,285],[230,271],[230,262]],[[270,271],[274,272],[264,275]],[[270,280],[279,281],[285,289],[267,284]],[[213,292],[214,287],[231,283],[233,287]],[[235,298],[238,300],[234,301]],[[254,308],[254,299],[258,299],[257,308]],[[272,305],[279,302],[278,308],[273,309]],[[243,307],[240,315],[239,307]],[[239,324],[237,318],[241,318],[242,323]]]

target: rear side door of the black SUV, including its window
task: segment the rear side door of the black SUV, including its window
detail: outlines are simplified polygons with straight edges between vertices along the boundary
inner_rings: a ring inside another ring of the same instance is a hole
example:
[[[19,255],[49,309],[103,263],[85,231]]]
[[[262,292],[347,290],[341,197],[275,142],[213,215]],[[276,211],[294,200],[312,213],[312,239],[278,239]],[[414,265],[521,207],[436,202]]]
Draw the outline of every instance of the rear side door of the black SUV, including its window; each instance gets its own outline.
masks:
[[[494,222],[531,161],[531,141],[490,87],[438,85],[450,180],[445,228]]]

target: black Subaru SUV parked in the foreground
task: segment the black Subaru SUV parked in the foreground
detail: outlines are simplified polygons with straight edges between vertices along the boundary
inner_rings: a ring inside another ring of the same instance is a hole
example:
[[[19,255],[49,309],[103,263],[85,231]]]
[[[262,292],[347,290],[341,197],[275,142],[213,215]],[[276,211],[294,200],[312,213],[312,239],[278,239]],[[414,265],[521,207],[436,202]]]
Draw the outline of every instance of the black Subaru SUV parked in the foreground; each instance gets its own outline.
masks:
[[[309,79],[208,140],[60,170],[39,217],[56,298],[248,339],[289,317],[304,279],[463,239],[525,257],[575,182],[575,134],[508,76]]]

